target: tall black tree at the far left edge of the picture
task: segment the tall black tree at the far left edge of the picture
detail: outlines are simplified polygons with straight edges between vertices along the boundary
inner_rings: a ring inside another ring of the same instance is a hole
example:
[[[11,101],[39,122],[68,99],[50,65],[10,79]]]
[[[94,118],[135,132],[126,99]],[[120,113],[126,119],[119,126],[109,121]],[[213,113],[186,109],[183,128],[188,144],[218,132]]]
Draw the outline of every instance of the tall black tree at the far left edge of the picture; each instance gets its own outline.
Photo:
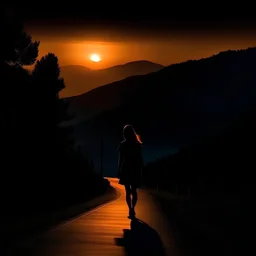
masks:
[[[33,167],[31,152],[37,152],[36,148],[30,147],[33,140],[28,113],[31,99],[31,76],[22,67],[31,65],[38,56],[39,42],[33,42],[17,17],[8,16],[4,12],[3,36],[1,39],[1,67],[2,84],[0,103],[1,109],[1,178],[3,198],[1,202],[11,206],[17,206],[17,201],[23,202],[27,199],[24,188],[28,189],[32,182],[30,167]],[[31,107],[31,106],[30,106]],[[30,116],[31,118],[31,116]],[[32,170],[32,168],[31,168]],[[15,191],[16,190],[16,191]],[[12,197],[7,191],[12,191]],[[31,192],[31,191],[30,191]],[[32,193],[31,193],[32,194]],[[7,195],[7,196],[6,196]],[[5,207],[5,208],[9,208]]]

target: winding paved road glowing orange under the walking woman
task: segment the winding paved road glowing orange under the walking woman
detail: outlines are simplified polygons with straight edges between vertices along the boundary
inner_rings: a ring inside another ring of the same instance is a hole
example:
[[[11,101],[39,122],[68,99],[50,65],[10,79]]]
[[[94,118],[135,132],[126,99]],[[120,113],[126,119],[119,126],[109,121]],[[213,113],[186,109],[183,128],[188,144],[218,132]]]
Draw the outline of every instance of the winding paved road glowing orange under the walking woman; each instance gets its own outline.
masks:
[[[24,256],[176,256],[171,228],[154,199],[139,190],[138,220],[127,218],[124,188],[109,178],[119,191],[114,201],[34,237],[7,255]]]

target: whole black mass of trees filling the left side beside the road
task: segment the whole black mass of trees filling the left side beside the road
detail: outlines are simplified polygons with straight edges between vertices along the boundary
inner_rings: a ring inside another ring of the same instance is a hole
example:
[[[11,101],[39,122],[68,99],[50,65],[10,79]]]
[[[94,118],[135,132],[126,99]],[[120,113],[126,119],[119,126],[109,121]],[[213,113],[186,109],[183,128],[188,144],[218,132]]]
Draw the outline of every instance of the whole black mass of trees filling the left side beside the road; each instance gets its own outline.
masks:
[[[36,61],[39,42],[32,41],[17,19],[6,19],[2,42],[1,202],[5,209],[48,210],[94,196],[106,182],[90,172],[87,159],[77,151],[73,129],[62,126],[71,117],[68,101],[59,97],[65,83],[57,56],[48,53]],[[30,74],[23,66],[35,61]],[[93,182],[93,191],[89,186],[84,191],[85,177]]]

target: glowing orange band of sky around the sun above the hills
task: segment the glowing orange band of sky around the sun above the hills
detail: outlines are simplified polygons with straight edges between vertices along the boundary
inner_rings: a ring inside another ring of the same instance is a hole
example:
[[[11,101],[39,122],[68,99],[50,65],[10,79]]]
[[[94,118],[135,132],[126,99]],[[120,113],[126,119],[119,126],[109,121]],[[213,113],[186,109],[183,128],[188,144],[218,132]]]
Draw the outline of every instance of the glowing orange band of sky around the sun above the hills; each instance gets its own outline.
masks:
[[[201,33],[189,32],[168,36],[125,36],[103,31],[89,33],[65,30],[47,32],[36,28],[26,28],[34,40],[40,40],[39,57],[48,52],[55,53],[63,65],[83,65],[101,69],[135,60],[149,60],[169,65],[189,59],[200,59],[229,49],[243,49],[256,46],[255,31],[233,31]],[[71,32],[70,32],[71,31]],[[102,61],[93,63],[89,56],[97,53]]]

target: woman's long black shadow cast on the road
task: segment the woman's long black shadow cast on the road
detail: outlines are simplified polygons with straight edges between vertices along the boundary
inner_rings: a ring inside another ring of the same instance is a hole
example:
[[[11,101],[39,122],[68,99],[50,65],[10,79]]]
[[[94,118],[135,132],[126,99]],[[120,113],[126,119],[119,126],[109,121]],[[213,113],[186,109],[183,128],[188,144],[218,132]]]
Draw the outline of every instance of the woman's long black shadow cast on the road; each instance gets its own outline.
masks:
[[[124,247],[126,256],[166,255],[156,230],[137,218],[131,220],[131,229],[124,229],[123,238],[116,238],[116,244]]]

